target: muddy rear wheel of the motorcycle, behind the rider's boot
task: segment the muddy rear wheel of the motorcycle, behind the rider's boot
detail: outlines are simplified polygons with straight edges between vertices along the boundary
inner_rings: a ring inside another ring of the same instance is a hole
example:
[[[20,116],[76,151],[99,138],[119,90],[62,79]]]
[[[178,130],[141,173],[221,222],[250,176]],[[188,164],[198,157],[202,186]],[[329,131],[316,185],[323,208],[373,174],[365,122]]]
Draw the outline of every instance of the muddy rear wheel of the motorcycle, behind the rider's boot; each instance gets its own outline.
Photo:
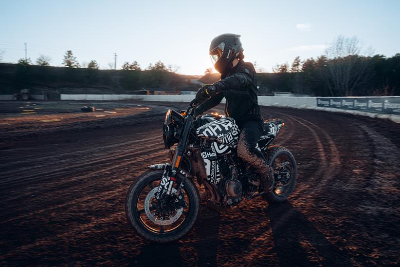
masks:
[[[268,165],[273,169],[275,184],[271,192],[263,194],[269,203],[282,202],[288,199],[296,185],[296,160],[292,153],[282,146],[271,146],[265,153]],[[277,178],[281,180],[277,180]]]

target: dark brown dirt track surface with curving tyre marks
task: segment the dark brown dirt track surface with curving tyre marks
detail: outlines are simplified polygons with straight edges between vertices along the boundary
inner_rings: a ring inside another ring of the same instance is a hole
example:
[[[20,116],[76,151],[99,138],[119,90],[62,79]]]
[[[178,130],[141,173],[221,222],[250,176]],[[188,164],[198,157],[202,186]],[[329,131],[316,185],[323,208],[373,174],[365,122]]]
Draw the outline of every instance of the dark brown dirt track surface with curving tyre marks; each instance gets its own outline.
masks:
[[[124,212],[132,180],[167,161],[164,116],[115,117],[88,131],[69,126],[35,138],[1,130],[0,265],[399,264],[400,124],[308,110],[262,113],[286,122],[273,144],[297,160],[290,199],[203,208],[195,229],[165,246],[140,239]]]

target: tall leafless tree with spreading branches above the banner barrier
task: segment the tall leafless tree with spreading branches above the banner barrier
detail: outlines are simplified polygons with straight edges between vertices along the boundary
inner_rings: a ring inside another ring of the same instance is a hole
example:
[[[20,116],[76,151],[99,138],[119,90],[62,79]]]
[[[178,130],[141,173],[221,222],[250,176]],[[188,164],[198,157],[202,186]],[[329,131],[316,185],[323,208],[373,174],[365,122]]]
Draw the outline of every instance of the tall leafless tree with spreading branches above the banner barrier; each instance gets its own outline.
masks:
[[[320,75],[332,96],[352,95],[355,88],[368,81],[370,63],[366,59],[372,50],[366,53],[366,57],[361,56],[362,45],[357,37],[344,36],[337,37],[325,50],[327,57],[321,58],[324,62],[319,64]]]

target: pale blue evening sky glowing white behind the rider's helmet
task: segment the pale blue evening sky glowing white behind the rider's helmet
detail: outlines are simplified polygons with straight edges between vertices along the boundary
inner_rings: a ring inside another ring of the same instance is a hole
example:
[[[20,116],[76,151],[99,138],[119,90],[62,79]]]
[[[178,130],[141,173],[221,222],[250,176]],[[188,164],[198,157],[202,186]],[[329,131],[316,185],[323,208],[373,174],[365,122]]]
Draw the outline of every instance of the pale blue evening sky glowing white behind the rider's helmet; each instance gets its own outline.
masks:
[[[400,53],[400,0],[0,0],[2,62],[39,55],[61,66],[66,50],[108,69],[158,60],[202,75],[222,33],[241,35],[245,61],[271,72],[277,63],[318,57],[337,36],[357,36],[374,54]]]

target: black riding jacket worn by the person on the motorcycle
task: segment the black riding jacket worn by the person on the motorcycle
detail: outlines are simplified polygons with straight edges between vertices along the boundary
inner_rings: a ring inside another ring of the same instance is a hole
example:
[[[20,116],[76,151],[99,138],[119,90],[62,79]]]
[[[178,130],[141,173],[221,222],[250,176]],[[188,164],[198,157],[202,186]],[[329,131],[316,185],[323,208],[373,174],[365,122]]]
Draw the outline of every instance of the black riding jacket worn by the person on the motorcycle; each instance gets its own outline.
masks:
[[[202,103],[198,108],[199,113],[217,106],[225,97],[225,114],[235,119],[236,123],[260,119],[257,75],[252,63],[240,60],[227,74],[222,74],[221,80],[215,85],[220,92]]]

